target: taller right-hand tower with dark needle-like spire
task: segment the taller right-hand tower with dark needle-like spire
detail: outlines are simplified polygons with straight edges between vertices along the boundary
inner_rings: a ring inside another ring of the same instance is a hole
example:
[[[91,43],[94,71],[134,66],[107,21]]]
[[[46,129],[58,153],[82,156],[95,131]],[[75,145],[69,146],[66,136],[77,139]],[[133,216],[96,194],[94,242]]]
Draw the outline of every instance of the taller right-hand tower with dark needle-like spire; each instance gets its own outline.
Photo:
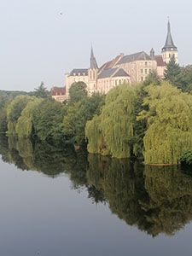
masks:
[[[161,53],[162,53],[163,61],[165,61],[166,64],[169,63],[172,56],[175,57],[175,61],[177,62],[178,52],[177,52],[177,47],[175,46],[172,40],[170,20],[168,20],[168,24],[167,24],[166,44],[162,48]]]

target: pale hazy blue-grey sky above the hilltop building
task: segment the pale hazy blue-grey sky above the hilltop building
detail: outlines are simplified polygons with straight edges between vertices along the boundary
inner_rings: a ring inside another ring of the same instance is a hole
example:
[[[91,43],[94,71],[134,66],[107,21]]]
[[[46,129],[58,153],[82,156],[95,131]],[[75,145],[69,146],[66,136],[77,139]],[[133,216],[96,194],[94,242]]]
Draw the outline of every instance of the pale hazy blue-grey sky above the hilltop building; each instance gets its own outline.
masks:
[[[189,0],[0,0],[0,90],[50,89],[73,67],[89,67],[166,41],[167,16],[181,65],[192,63]],[[61,15],[62,13],[62,15]]]

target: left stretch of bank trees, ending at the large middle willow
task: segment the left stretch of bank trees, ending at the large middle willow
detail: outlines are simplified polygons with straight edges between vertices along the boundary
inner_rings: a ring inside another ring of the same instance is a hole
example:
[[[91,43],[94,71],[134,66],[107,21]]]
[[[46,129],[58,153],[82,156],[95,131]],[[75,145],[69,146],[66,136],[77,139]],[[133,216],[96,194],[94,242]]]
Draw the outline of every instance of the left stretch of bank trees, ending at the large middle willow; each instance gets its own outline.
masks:
[[[12,137],[38,138],[42,142],[85,143],[84,126],[100,114],[104,96],[87,96],[83,82],[70,88],[70,100],[61,104],[41,84],[34,93],[15,96],[4,102],[0,131]]]

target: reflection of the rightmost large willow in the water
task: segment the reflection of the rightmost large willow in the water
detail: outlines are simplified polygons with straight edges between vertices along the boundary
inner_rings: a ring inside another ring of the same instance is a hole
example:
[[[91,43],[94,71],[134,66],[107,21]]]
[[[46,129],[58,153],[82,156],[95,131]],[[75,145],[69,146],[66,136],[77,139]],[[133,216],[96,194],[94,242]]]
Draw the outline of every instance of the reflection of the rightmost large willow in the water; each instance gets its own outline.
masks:
[[[179,167],[146,166],[145,189],[149,199],[142,206],[150,234],[173,235],[192,219],[192,178]]]

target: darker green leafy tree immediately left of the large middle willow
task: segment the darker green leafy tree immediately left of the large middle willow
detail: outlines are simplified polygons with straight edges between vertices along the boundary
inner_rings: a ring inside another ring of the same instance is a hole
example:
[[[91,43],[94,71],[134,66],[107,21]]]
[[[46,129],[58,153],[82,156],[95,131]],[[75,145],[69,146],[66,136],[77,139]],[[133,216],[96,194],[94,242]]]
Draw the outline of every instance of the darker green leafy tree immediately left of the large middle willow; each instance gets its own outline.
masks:
[[[91,97],[84,96],[80,102],[69,106],[63,119],[63,134],[73,143],[83,144],[86,122],[100,113],[103,103],[104,96],[94,94]]]

